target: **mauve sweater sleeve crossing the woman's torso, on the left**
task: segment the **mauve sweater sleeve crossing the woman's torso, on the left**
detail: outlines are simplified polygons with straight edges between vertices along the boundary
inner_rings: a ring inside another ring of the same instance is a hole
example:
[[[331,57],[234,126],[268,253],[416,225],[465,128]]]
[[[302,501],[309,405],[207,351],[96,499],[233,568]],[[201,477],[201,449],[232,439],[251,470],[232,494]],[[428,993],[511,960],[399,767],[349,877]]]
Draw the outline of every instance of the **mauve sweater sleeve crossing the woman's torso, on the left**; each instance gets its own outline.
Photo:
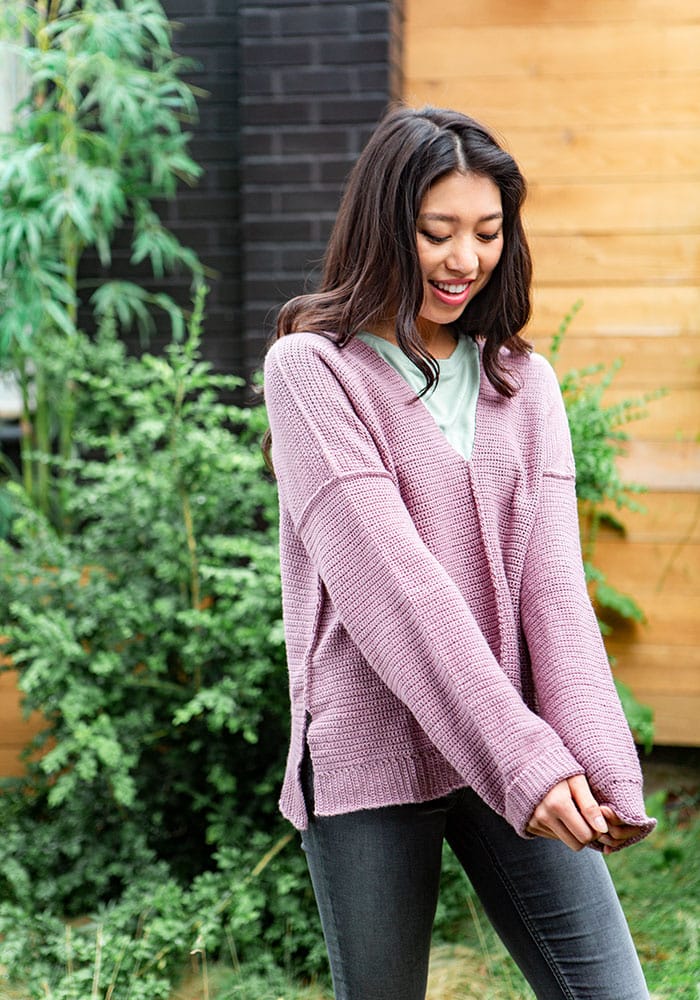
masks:
[[[549,789],[583,769],[500,669],[334,372],[300,335],[285,339],[297,342],[265,369],[280,502],[363,657],[525,835]]]

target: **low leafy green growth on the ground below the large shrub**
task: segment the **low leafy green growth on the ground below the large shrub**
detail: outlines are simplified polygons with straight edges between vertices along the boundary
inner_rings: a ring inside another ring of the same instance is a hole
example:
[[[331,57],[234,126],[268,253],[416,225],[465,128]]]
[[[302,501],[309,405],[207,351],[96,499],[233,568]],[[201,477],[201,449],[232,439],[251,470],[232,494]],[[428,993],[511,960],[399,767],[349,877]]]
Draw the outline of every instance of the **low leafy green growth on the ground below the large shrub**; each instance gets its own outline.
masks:
[[[252,979],[262,984],[264,977],[268,986],[283,981],[283,970],[285,976],[298,973],[302,961],[307,973],[322,970],[325,948],[301,852],[290,854],[284,866],[270,863],[289,839],[284,836],[255,865],[264,836],[246,848],[227,848],[214,871],[189,885],[162,862],[153,864],[88,919],[68,924],[50,909],[0,902],[0,956],[11,969],[10,982],[27,991],[23,1000],[165,1000],[191,955],[204,961],[222,956],[237,973],[234,996],[243,995],[241,980],[250,985],[252,970]]]

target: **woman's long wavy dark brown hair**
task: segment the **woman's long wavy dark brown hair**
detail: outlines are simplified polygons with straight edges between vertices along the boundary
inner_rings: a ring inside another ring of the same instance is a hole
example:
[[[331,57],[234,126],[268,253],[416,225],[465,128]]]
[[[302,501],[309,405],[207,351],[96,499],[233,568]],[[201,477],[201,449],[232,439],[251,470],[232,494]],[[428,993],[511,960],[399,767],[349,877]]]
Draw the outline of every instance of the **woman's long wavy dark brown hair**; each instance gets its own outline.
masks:
[[[394,316],[396,340],[430,388],[438,366],[416,328],[423,303],[416,220],[430,186],[453,171],[488,177],[498,187],[503,252],[452,329],[483,339],[489,381],[501,395],[512,396],[517,386],[500,349],[516,354],[530,349],[519,335],[530,316],[532,278],[520,217],[526,185],[513,157],[491,133],[458,111],[401,106],[382,119],[348,179],[319,289],[283,306],[277,338],[306,330],[343,346],[359,331]]]

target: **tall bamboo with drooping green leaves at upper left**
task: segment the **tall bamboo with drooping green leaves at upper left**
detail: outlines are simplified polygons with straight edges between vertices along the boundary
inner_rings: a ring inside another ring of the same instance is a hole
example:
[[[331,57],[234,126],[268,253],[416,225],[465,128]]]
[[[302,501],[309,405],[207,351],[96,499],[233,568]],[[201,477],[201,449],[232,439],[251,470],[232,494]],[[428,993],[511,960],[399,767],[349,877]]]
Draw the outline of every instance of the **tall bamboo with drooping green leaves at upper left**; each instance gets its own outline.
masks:
[[[22,32],[29,43],[17,42]],[[0,56],[4,46],[21,59],[29,93],[0,136],[0,366],[22,387],[25,488],[61,524],[61,476],[52,479],[34,450],[70,458],[77,401],[60,364],[47,373],[46,362],[79,349],[80,304],[93,325],[137,325],[144,335],[153,310],[164,311],[182,335],[170,296],[134,281],[81,280],[80,263],[90,250],[108,268],[119,237],[134,268],[201,279],[196,254],[155,207],[201,173],[182,130],[196,108],[157,0],[6,0],[2,37]]]

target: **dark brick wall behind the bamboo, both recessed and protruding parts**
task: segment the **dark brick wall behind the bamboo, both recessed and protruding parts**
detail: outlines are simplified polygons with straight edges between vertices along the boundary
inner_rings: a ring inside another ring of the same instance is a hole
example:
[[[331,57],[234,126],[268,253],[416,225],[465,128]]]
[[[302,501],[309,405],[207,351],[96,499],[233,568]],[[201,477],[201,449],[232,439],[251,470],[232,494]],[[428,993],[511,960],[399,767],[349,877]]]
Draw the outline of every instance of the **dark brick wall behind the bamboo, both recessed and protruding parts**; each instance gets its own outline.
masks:
[[[194,188],[164,222],[210,270],[204,353],[260,366],[279,305],[313,286],[344,180],[400,93],[399,0],[163,0],[175,48],[198,67]],[[114,273],[134,276],[127,248]],[[95,262],[89,268],[97,267]],[[143,275],[145,278],[145,273]],[[181,302],[186,281],[159,285]],[[138,349],[135,336],[129,338]],[[165,333],[150,347],[158,349]]]

